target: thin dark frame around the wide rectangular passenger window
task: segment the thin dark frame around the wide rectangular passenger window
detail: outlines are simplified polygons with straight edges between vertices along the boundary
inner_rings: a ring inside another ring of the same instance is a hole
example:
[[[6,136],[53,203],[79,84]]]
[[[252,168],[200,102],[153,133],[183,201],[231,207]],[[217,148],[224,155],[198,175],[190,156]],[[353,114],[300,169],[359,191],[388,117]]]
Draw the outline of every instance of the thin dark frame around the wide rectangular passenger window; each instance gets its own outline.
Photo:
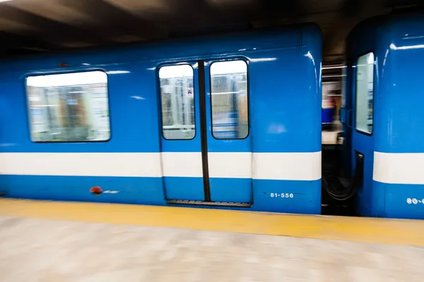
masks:
[[[109,138],[107,140],[84,140],[84,141],[35,141],[33,140],[33,134],[32,134],[32,128],[31,128],[31,118],[30,118],[30,101],[28,96],[28,84],[27,80],[30,77],[37,77],[37,76],[46,76],[46,75],[63,75],[63,74],[72,74],[72,73],[90,73],[100,71],[102,73],[105,73],[106,75],[106,95],[107,95],[107,111],[109,112]],[[29,140],[33,143],[47,143],[47,144],[55,144],[55,143],[105,143],[110,142],[112,139],[112,114],[110,109],[110,90],[109,90],[109,75],[107,75],[107,71],[102,68],[85,68],[85,69],[73,69],[70,71],[47,71],[47,72],[37,72],[37,73],[25,73],[23,77],[23,94],[25,103],[24,106],[26,106],[26,115],[27,115],[27,132],[29,134]]]

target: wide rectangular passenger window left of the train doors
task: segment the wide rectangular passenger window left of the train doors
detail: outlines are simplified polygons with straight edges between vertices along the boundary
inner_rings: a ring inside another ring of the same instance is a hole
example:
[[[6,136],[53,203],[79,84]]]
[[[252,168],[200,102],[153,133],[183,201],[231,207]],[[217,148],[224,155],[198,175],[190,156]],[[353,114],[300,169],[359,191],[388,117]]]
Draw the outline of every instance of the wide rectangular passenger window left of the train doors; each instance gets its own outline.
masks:
[[[26,79],[26,90],[34,142],[110,139],[106,73],[30,76]]]

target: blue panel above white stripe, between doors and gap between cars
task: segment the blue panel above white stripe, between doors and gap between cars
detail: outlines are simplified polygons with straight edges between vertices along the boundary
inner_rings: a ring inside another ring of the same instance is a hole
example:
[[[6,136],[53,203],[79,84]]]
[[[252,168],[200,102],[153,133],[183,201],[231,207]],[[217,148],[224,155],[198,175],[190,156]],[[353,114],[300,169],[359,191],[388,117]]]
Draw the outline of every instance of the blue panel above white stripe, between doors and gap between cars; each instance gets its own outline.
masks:
[[[321,92],[307,54],[284,49],[249,58],[253,152],[321,150]]]

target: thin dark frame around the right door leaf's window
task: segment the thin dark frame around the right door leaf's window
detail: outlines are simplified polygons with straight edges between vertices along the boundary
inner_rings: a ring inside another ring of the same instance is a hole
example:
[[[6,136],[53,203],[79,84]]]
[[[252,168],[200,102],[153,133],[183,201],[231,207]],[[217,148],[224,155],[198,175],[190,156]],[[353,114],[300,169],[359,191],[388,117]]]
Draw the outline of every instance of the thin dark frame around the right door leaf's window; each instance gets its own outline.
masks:
[[[214,63],[223,63],[226,61],[243,61],[246,64],[246,90],[247,90],[247,135],[243,138],[217,138],[213,135],[213,110],[212,110],[212,75],[211,75],[211,67]],[[208,74],[209,74],[209,104],[211,105],[211,135],[215,140],[245,140],[250,135],[250,80],[249,80],[249,60],[244,57],[235,57],[235,58],[226,58],[226,59],[218,59],[214,61],[209,61],[208,63]]]

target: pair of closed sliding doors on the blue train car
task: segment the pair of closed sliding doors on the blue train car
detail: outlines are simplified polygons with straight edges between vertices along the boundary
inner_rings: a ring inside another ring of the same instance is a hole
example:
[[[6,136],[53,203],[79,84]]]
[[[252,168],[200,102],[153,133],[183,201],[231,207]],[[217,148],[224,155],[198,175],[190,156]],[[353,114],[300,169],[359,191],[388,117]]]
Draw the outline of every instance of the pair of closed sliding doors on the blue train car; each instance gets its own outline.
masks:
[[[238,63],[242,73],[227,74],[216,72],[214,64],[179,63],[158,71],[163,183],[170,204],[252,202],[247,63]]]

